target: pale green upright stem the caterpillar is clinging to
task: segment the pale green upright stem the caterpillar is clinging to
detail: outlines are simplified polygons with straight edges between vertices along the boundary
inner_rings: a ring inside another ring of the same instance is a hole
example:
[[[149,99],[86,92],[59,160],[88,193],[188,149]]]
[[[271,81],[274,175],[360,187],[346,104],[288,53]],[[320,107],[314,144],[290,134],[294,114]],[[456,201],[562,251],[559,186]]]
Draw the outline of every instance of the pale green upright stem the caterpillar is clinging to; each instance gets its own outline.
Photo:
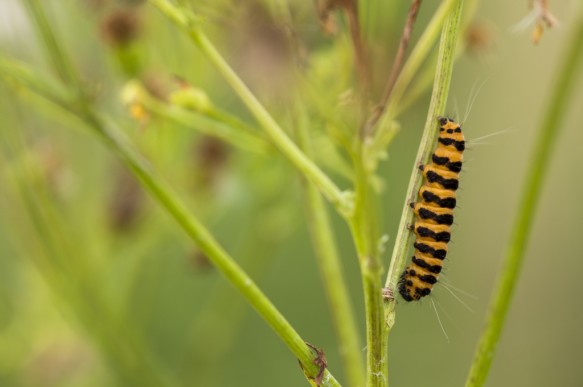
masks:
[[[401,223],[399,224],[397,238],[393,248],[393,256],[391,258],[391,264],[385,283],[386,291],[391,295],[385,299],[384,303],[387,335],[395,322],[396,285],[399,276],[403,271],[403,267],[407,262],[407,252],[411,246],[413,238],[413,233],[408,230],[408,225],[413,222],[413,211],[409,207],[409,202],[415,198],[422,182],[421,174],[418,171],[418,165],[419,163],[425,163],[429,160],[437,139],[438,127],[436,118],[442,115],[445,111],[453,72],[455,48],[459,35],[463,3],[464,0],[456,0],[454,8],[452,9],[451,14],[448,16],[441,33],[431,103],[427,113],[427,120],[425,122],[423,137],[421,138],[421,144],[415,159],[417,161],[415,162],[413,171],[411,173],[411,180],[409,182],[409,188],[407,189],[406,194],[406,202],[403,208],[403,213],[401,215]],[[388,337],[386,340],[388,340]]]

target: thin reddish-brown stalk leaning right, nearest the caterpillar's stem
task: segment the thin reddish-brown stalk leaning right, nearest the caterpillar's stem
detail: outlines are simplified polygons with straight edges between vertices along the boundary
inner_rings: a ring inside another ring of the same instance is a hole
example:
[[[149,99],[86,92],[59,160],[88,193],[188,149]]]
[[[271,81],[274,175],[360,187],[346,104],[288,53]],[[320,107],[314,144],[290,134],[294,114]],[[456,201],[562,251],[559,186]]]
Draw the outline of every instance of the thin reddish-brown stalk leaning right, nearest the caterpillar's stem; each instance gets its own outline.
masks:
[[[364,134],[369,136],[375,124],[378,122],[379,118],[385,112],[387,103],[391,98],[391,93],[393,92],[393,87],[397,81],[397,77],[403,67],[403,62],[405,60],[405,53],[407,52],[407,47],[409,46],[409,40],[411,39],[411,32],[413,31],[413,26],[417,20],[417,14],[419,13],[419,8],[421,7],[421,0],[413,0],[411,7],[409,8],[409,13],[407,14],[407,21],[405,22],[405,27],[403,28],[403,34],[401,35],[401,41],[399,42],[399,49],[397,50],[397,55],[395,56],[395,61],[393,62],[393,67],[387,79],[387,84],[383,92],[383,96],[379,101],[377,107],[373,111],[371,117],[365,124]]]

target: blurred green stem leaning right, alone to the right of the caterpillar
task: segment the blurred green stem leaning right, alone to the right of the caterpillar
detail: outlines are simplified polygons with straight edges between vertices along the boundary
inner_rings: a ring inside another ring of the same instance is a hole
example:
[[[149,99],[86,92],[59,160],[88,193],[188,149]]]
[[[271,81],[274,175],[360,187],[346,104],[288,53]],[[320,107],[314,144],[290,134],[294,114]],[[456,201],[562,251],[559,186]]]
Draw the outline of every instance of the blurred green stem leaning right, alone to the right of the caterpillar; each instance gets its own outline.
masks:
[[[522,191],[514,231],[499,274],[496,290],[491,299],[486,326],[476,348],[474,362],[466,381],[466,386],[468,387],[482,386],[486,382],[522,267],[525,248],[534,223],[535,210],[545,173],[549,166],[553,145],[557,140],[559,129],[569,107],[569,98],[576,85],[575,78],[582,69],[583,13],[574,26],[576,26],[576,30],[573,32],[570,45],[565,52],[563,64],[557,72],[558,81],[555,83],[555,89],[549,99],[547,111],[539,128],[536,147],[532,153],[528,175]]]

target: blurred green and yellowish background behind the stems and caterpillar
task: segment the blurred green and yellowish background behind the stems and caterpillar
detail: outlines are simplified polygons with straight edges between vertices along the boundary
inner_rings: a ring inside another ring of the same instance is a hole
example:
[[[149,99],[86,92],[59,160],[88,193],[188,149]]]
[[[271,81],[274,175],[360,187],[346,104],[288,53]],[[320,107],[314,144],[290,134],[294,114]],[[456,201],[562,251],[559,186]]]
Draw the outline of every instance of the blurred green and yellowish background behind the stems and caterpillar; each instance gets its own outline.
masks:
[[[294,61],[322,93],[324,109],[342,110],[338,100],[350,89],[353,74],[340,15],[322,24],[312,2],[291,1],[301,44],[290,48],[270,1],[192,3],[210,38],[276,119],[289,123]],[[433,3],[423,3],[412,44],[433,15]],[[131,87],[128,81],[140,79],[152,98],[168,101],[186,90],[223,118],[256,129],[232,90],[181,31],[141,1],[43,5],[99,109],[123,125],[302,337],[325,349],[331,372],[343,381],[295,170],[277,154],[232,146],[205,135],[204,128],[168,119],[164,112],[128,109],[120,101]],[[408,6],[361,1],[377,93]],[[448,104],[450,115],[463,121],[470,144],[476,140],[465,156],[444,275],[460,290],[452,289],[454,296],[437,285],[431,296],[447,336],[430,301],[399,304],[390,337],[392,385],[465,381],[534,137],[580,6],[575,0],[551,1],[560,23],[538,45],[531,40],[533,25],[515,28],[528,17],[527,1],[482,2],[472,16]],[[0,2],[0,48],[2,55],[51,75],[44,47],[18,0]],[[577,80],[549,166],[490,386],[583,385],[578,285],[583,260],[577,242],[583,216],[582,85],[583,79]],[[4,86],[0,386],[147,386],[157,385],[160,375],[184,386],[306,385],[271,329],[80,121]],[[381,230],[390,238],[389,252],[428,102],[429,90],[399,116],[401,130],[379,169]],[[310,114],[322,156],[318,162],[348,189],[346,158],[327,139],[326,118]],[[353,244],[344,221],[332,218],[364,342]]]

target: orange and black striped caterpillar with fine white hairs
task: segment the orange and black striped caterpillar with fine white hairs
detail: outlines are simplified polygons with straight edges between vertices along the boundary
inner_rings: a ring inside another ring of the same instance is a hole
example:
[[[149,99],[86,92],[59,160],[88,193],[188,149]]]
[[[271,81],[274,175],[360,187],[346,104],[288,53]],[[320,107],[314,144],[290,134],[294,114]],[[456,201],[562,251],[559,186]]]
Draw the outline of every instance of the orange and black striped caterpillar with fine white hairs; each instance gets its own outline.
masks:
[[[462,170],[465,140],[462,128],[451,118],[439,118],[438,145],[432,163],[420,165],[425,183],[419,190],[420,201],[411,203],[416,221],[415,255],[399,280],[399,293],[405,301],[418,301],[431,293],[447,255],[455,191]]]

